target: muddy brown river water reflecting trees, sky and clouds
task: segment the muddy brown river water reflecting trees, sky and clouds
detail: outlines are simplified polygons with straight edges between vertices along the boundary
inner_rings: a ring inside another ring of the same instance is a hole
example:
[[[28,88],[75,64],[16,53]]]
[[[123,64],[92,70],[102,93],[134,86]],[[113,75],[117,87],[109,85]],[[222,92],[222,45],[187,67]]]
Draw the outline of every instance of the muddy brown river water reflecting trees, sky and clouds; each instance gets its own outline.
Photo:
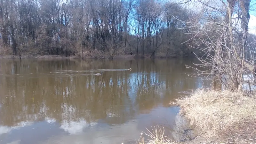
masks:
[[[169,102],[210,84],[186,74],[193,62],[1,59],[0,144],[127,144],[156,125],[177,139]]]

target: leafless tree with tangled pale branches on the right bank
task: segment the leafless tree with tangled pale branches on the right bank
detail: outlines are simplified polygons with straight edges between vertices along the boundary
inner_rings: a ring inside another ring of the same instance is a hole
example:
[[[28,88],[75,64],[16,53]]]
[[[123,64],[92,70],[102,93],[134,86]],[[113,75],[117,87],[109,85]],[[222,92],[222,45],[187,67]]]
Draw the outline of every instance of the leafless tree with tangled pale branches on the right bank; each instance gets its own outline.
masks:
[[[191,46],[204,52],[204,57],[198,57],[202,64],[196,65],[208,69],[199,71],[187,67],[206,78],[213,76],[213,80],[219,80],[229,90],[243,90],[244,76],[248,76],[248,72],[255,74],[254,42],[248,39],[250,1],[199,2],[202,14],[197,15],[197,22],[189,22],[194,29],[190,33],[194,42]]]

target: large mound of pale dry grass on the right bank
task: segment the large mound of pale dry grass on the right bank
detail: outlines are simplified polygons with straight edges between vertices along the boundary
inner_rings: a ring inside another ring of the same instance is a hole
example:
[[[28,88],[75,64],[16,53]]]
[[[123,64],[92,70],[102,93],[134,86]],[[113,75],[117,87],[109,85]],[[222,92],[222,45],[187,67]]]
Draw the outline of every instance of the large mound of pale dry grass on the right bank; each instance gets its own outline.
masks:
[[[256,135],[255,95],[198,89],[189,97],[177,99],[175,104],[180,106],[180,114],[206,138],[226,139],[236,134],[245,139]]]

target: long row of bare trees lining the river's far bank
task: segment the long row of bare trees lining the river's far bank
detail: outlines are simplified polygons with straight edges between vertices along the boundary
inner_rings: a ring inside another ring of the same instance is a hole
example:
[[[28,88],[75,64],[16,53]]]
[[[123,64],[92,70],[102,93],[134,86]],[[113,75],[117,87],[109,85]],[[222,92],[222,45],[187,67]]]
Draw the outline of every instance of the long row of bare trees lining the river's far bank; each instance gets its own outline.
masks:
[[[1,0],[0,54],[188,56],[189,15],[172,1]]]

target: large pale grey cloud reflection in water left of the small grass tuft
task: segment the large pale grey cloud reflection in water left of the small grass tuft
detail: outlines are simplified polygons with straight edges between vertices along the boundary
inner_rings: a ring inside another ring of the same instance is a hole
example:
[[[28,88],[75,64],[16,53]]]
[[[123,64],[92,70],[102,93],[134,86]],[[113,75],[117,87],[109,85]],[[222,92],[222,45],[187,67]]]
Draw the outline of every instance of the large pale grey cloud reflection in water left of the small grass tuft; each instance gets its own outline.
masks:
[[[148,119],[145,120],[147,121]],[[138,128],[138,121],[129,121],[124,125],[115,125],[109,127],[98,127],[97,129],[84,131],[83,133],[79,134],[54,135],[45,141],[38,142],[38,144],[46,144],[49,143],[49,141],[51,141],[51,143],[61,144],[121,144],[121,142],[135,143],[141,133],[141,129]],[[141,127],[144,128],[144,126]]]

